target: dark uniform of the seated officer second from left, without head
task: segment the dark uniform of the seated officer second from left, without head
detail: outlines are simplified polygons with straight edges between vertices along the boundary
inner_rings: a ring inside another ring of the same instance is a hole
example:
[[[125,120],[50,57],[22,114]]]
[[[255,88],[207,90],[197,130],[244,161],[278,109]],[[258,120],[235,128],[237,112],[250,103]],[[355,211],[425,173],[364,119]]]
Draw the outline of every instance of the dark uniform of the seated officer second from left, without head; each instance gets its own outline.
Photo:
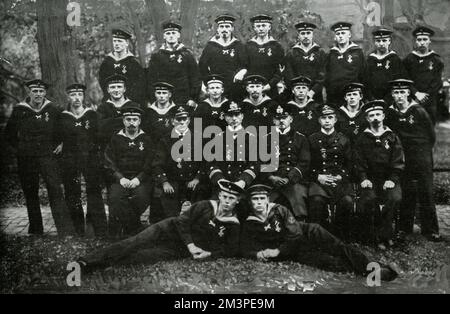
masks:
[[[201,134],[198,136],[201,138]],[[202,145],[198,144],[201,150]],[[172,131],[172,136],[160,139],[155,152],[153,174],[159,190],[164,182],[169,182],[174,193],[166,194],[161,191],[160,197],[152,200],[150,212],[152,223],[163,218],[177,216],[185,201],[195,203],[206,199],[211,194],[206,191],[206,178],[202,162],[194,160],[195,145],[195,136],[189,129],[184,134]],[[179,153],[179,157],[176,159],[172,155],[174,148],[178,148],[177,152]],[[198,179],[199,183],[194,190],[191,190],[187,185],[194,179]]]

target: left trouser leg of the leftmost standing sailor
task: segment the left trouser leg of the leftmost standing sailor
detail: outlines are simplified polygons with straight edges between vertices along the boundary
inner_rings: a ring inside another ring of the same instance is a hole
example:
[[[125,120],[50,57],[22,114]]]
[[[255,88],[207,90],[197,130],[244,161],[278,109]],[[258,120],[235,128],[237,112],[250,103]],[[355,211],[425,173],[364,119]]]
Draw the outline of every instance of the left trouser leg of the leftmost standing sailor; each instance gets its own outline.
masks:
[[[28,211],[28,233],[41,235],[44,233],[44,226],[39,204],[39,163],[36,157],[19,157],[17,168]]]

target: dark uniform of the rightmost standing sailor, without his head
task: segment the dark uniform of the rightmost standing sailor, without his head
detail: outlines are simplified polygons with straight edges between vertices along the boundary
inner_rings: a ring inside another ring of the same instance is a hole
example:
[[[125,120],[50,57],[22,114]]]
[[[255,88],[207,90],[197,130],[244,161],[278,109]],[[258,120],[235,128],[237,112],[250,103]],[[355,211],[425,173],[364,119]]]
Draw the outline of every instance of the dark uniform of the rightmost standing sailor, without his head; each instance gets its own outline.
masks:
[[[406,112],[391,107],[390,121],[405,152],[402,190],[407,197],[402,200],[400,208],[399,230],[412,233],[417,197],[422,234],[438,234],[433,199],[433,145],[436,140],[433,124],[425,109],[417,103],[413,103]],[[415,183],[420,192],[416,192]]]

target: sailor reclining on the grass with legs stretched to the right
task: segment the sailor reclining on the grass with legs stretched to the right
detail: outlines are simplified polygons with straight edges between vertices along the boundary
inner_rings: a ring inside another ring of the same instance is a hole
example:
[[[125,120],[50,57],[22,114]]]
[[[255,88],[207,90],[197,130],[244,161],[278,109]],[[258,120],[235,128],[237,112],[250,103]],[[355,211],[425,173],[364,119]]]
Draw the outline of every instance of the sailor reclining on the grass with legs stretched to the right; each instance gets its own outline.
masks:
[[[335,265],[334,258],[340,258],[347,269],[367,274],[370,263],[367,256],[318,224],[296,221],[286,207],[269,202],[269,191],[270,187],[261,184],[247,189],[251,213],[243,223],[240,237],[244,257],[260,261],[294,260],[326,268]],[[382,280],[393,280],[396,276],[393,269],[382,266]]]

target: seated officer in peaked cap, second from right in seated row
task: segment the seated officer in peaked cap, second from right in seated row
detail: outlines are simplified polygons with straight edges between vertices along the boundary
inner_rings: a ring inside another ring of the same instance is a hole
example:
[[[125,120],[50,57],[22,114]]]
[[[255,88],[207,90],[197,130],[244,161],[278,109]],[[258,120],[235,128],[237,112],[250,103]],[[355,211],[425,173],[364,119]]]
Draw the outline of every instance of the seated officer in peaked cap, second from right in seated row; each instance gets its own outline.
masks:
[[[342,237],[349,236],[349,216],[353,209],[350,141],[337,132],[336,110],[323,105],[319,122],[321,131],[309,137],[311,176],[309,187],[309,217],[322,226],[333,223]]]

